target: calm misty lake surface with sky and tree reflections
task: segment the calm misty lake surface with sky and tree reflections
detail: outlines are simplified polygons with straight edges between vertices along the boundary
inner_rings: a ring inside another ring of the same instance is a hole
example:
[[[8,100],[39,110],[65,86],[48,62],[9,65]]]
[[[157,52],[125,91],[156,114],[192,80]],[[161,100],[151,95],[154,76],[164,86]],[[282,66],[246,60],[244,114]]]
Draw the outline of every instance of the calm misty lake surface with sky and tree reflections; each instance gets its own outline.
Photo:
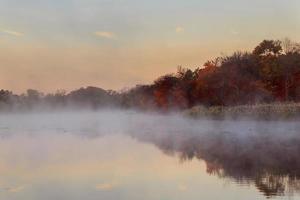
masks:
[[[300,199],[298,122],[0,116],[2,200]]]

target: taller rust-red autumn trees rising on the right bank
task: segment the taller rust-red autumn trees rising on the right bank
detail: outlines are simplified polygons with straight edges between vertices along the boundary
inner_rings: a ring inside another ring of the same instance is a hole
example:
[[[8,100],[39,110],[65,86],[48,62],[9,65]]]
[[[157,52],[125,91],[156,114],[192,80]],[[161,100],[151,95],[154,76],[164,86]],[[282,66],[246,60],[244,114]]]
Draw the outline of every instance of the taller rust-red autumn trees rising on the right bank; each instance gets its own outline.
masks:
[[[194,71],[178,68],[151,85],[126,93],[127,106],[190,108],[300,100],[300,44],[265,40],[252,52],[208,61]]]

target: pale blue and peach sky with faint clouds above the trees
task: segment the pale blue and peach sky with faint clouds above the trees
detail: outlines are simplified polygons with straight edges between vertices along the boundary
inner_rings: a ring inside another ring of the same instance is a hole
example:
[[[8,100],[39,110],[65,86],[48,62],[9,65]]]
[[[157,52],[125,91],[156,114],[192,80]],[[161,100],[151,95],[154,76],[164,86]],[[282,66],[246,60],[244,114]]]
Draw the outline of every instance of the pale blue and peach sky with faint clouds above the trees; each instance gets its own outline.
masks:
[[[285,37],[299,0],[0,0],[0,88],[121,90]]]

